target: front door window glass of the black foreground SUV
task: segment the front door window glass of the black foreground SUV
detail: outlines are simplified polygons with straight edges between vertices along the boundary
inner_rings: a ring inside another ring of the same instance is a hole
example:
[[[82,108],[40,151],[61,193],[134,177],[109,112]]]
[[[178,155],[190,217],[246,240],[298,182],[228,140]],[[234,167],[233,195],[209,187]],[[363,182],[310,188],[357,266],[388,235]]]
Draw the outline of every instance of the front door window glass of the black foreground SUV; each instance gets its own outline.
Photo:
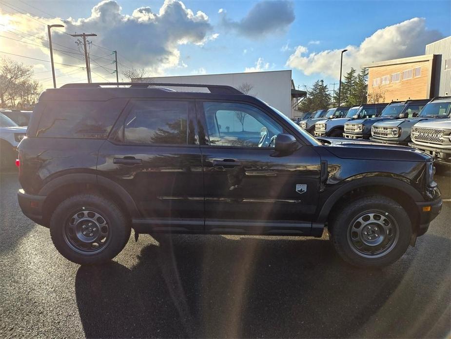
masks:
[[[258,108],[237,103],[203,103],[210,146],[274,148],[283,128]]]

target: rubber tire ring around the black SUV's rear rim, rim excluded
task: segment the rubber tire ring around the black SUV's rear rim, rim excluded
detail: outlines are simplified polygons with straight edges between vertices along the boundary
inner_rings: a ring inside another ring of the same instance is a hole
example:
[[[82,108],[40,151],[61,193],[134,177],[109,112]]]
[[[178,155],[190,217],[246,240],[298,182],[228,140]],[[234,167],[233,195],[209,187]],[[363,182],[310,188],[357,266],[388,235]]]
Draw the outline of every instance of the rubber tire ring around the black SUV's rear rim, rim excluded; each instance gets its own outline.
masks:
[[[96,254],[81,254],[72,249],[65,240],[65,223],[76,212],[94,210],[107,221],[109,240],[105,248]],[[125,246],[130,237],[130,225],[124,214],[111,201],[94,194],[82,194],[64,200],[53,212],[50,218],[50,235],[60,254],[66,259],[82,265],[100,264],[114,258]]]

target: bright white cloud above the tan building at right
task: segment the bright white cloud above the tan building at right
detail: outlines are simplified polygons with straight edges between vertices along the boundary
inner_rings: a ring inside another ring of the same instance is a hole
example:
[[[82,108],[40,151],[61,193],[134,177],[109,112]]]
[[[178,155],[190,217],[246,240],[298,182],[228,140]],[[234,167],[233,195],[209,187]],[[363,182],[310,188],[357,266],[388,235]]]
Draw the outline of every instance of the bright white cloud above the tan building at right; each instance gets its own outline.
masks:
[[[343,54],[343,71],[346,72],[351,67],[358,69],[372,62],[422,55],[427,43],[442,37],[440,32],[426,28],[424,18],[413,18],[377,30],[359,46],[348,45],[310,54],[307,47],[297,46],[286,65],[306,75],[318,73],[338,79],[343,49],[348,49]]]

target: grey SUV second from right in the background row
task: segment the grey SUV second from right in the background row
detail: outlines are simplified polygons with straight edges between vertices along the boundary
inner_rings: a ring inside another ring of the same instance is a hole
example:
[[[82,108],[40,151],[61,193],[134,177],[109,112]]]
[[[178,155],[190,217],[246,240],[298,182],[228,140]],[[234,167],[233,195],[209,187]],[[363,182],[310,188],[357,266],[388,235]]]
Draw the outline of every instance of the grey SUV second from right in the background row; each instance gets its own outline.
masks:
[[[426,104],[416,117],[388,120],[375,123],[370,140],[393,145],[407,146],[411,139],[412,126],[420,121],[449,118],[451,97],[437,97]]]

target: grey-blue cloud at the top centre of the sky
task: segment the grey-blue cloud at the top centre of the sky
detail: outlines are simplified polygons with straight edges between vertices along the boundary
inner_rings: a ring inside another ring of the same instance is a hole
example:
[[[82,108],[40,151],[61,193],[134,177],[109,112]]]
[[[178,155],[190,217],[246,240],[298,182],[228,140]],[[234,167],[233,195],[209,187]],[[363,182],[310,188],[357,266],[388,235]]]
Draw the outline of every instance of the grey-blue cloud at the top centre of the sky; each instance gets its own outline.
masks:
[[[229,19],[222,8],[218,13],[226,29],[235,30],[248,38],[283,32],[294,21],[293,2],[285,0],[257,2],[240,21]]]

